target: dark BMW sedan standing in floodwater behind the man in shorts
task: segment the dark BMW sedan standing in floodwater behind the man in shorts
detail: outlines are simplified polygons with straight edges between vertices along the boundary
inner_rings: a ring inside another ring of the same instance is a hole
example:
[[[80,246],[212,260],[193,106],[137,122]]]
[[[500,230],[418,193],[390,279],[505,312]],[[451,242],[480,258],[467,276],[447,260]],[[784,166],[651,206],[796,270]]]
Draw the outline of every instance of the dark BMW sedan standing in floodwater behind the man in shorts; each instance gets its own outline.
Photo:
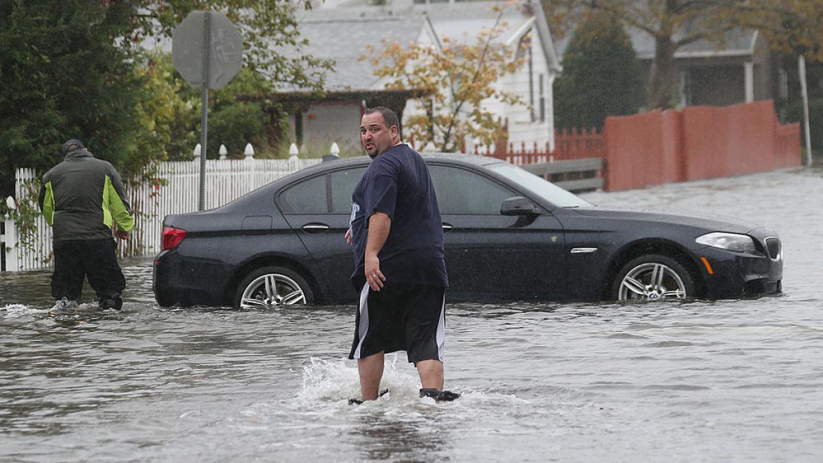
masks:
[[[766,227],[598,208],[517,166],[425,156],[443,217],[449,301],[733,298],[779,292]],[[323,162],[221,208],[165,217],[157,302],[353,302],[351,191],[370,160]]]

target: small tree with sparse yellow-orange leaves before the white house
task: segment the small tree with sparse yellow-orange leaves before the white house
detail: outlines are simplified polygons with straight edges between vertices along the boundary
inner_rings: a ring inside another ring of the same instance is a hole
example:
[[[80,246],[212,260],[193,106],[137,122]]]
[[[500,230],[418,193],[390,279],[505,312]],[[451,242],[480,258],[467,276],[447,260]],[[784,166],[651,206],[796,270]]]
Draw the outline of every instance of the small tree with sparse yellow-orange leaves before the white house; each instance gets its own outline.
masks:
[[[422,101],[425,111],[406,118],[406,134],[424,144],[434,143],[443,152],[458,151],[465,137],[492,145],[504,134],[500,121],[481,103],[488,98],[522,104],[518,96],[496,88],[495,82],[523,63],[514,58],[514,50],[498,42],[503,10],[497,11],[495,26],[482,30],[474,44],[444,38],[439,49],[425,44],[403,48],[385,40],[381,51],[367,47],[374,74],[389,79],[388,89],[427,94]]]

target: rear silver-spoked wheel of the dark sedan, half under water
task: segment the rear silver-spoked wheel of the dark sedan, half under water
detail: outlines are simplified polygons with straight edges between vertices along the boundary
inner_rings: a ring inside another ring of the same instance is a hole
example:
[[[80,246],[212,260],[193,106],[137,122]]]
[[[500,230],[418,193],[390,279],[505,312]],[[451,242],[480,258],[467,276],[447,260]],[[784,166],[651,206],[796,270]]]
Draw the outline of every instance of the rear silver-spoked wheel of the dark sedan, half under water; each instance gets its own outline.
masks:
[[[235,292],[235,306],[244,309],[311,304],[314,294],[305,278],[283,267],[263,267],[243,278]]]

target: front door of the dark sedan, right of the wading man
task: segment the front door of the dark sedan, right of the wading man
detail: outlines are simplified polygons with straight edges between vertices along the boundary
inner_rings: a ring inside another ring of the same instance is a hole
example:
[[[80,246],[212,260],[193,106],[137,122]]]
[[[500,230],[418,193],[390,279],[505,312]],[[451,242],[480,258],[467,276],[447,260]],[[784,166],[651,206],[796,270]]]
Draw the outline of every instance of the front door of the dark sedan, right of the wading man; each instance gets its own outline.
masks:
[[[556,217],[503,216],[503,200],[524,194],[468,168],[432,164],[429,171],[443,218],[449,300],[564,297]]]

